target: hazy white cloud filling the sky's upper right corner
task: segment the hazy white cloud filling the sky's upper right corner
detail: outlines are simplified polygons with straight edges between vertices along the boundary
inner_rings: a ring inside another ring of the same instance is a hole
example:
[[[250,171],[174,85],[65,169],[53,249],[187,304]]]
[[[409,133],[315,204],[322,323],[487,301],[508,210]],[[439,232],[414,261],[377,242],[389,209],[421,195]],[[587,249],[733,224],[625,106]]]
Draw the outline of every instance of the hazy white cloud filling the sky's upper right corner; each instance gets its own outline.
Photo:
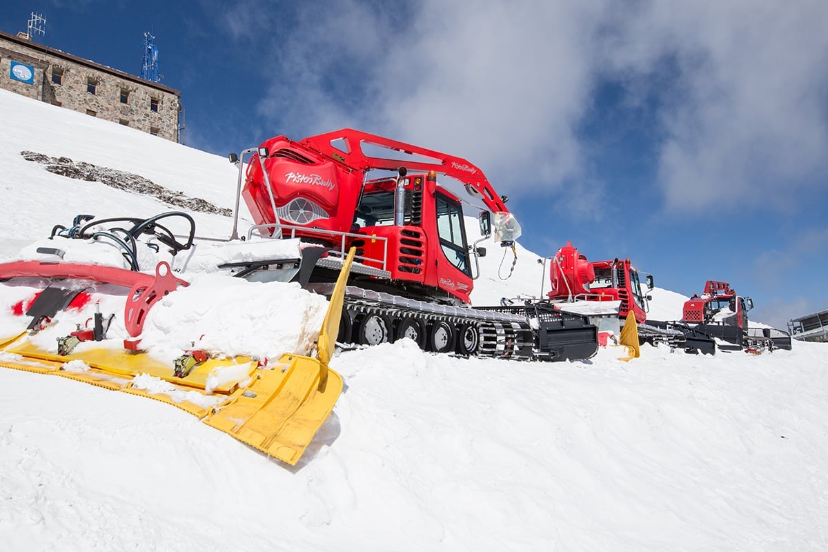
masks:
[[[663,98],[659,181],[667,206],[711,197],[788,207],[790,192],[828,169],[825,2],[657,2],[624,22],[608,52],[646,75],[674,62]]]

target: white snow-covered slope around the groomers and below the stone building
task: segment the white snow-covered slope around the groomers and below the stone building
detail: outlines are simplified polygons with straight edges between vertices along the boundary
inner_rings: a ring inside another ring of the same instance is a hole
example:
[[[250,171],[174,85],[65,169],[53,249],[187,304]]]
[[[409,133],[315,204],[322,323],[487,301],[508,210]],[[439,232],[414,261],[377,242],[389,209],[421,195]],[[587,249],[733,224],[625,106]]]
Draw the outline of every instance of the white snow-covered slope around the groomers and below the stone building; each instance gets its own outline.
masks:
[[[175,209],[21,151],[232,207],[222,158],[2,90],[0,117],[7,255],[75,214]],[[229,235],[229,217],[195,217]],[[475,303],[539,295],[536,255],[519,249],[500,280],[511,258],[485,245]],[[654,290],[652,317],[676,318],[683,300]],[[284,300],[273,316],[305,308]],[[466,360],[407,341],[340,353],[346,390],[296,468],[156,401],[0,370],[2,550],[828,550],[826,346],[642,353]]]

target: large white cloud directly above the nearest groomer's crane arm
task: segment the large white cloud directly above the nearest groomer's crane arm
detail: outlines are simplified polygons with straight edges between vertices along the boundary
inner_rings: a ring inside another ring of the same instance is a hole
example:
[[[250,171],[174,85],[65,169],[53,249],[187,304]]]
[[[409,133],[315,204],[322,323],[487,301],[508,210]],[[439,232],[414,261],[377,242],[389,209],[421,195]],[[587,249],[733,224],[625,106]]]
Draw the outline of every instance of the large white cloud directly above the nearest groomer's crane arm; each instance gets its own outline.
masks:
[[[337,2],[283,45],[260,111],[466,157],[504,193],[560,186],[580,171],[574,129],[599,6],[430,0],[391,25],[364,2]]]

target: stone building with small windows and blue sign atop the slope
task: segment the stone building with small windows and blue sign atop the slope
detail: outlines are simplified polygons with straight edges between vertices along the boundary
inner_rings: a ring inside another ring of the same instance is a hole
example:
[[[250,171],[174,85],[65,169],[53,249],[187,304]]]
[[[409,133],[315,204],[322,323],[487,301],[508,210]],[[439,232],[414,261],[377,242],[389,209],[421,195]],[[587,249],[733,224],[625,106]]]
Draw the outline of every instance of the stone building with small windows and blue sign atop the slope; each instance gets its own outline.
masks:
[[[179,142],[181,92],[0,31],[0,89]]]

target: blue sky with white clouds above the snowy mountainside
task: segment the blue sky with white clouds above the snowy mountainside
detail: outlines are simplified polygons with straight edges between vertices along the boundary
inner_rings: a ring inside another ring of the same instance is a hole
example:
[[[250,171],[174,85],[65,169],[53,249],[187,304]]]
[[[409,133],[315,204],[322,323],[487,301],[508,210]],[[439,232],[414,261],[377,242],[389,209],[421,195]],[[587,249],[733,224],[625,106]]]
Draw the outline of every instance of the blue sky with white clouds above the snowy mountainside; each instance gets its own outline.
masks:
[[[708,279],[785,327],[828,309],[828,3],[3,2],[46,46],[138,74],[224,155],[355,127],[480,166],[551,255]]]

